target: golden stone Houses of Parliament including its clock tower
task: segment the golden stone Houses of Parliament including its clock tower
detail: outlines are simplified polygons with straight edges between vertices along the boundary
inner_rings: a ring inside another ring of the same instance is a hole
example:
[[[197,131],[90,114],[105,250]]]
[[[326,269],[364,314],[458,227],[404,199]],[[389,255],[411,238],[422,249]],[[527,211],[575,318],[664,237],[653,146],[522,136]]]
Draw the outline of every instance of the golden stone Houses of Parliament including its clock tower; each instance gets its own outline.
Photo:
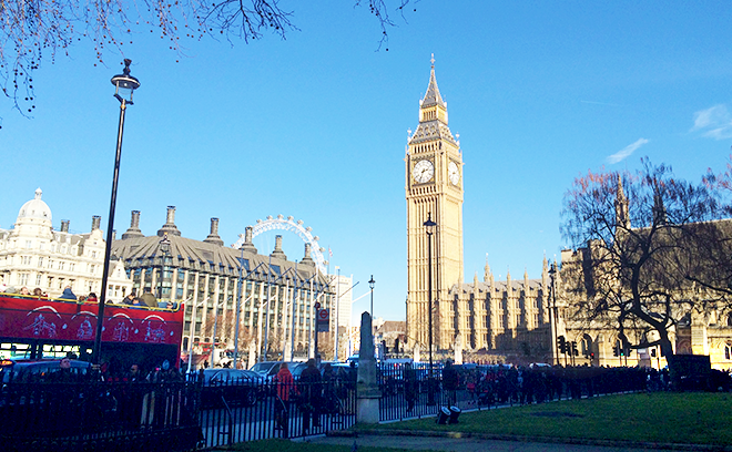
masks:
[[[498,281],[486,263],[481,279],[476,273],[472,281],[464,281],[462,165],[433,60],[419,124],[405,155],[407,347],[425,351],[431,341],[440,356],[470,353],[472,359],[515,363],[665,366],[657,347],[618,357],[617,329],[588,327],[570,316],[579,300],[567,286],[567,273],[578,268],[586,249],[563,250],[561,265],[545,257],[539,279],[526,273],[512,279],[509,273]],[[431,235],[425,226],[428,220],[436,224]],[[675,353],[708,355],[712,367],[732,368],[732,316],[690,312],[670,332]],[[560,337],[575,343],[571,358],[558,349]]]

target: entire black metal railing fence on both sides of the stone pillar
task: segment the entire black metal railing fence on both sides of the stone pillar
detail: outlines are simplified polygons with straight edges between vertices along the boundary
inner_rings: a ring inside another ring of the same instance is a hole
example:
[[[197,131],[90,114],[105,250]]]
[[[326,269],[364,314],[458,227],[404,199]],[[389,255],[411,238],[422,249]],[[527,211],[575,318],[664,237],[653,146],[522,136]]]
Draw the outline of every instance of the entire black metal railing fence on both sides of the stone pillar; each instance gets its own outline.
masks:
[[[629,368],[434,368],[380,364],[380,421],[459,410],[638,391]],[[431,383],[430,383],[431,381]],[[356,423],[353,378],[318,383],[254,380],[6,381],[0,392],[3,451],[187,451],[270,438],[297,438]]]

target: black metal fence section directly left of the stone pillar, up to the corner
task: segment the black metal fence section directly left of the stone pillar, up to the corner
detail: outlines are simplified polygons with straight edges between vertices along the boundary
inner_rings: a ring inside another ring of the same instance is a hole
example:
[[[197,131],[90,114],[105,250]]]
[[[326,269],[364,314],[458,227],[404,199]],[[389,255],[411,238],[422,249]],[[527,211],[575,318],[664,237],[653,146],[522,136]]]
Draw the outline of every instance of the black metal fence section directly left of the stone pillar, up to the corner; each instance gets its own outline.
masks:
[[[355,384],[339,380],[257,387],[223,382],[204,387],[202,401],[199,417],[207,448],[319,434],[356,422]]]

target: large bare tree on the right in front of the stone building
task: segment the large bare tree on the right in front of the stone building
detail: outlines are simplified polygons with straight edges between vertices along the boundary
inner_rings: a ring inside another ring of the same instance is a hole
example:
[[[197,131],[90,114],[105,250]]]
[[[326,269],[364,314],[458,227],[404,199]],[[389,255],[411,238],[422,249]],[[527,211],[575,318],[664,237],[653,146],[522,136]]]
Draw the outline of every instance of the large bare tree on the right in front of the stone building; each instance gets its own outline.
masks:
[[[575,320],[614,323],[623,347],[660,345],[668,356],[670,331],[724,296],[706,290],[720,274],[704,259],[729,232],[714,222],[723,210],[708,184],[642,162],[634,174],[590,172],[566,193],[561,233],[580,249],[562,279]]]

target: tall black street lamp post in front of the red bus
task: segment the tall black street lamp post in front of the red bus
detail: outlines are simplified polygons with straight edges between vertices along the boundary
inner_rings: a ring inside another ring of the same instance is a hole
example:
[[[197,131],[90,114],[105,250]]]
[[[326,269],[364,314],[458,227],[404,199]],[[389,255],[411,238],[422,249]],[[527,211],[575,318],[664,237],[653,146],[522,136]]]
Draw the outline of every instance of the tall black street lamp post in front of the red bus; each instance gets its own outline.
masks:
[[[128,104],[132,105],[132,93],[140,88],[140,81],[130,75],[130,64],[132,60],[124,59],[124,70],[122,74],[112,78],[112,84],[115,86],[114,97],[120,101],[120,124],[116,133],[116,154],[114,156],[114,174],[112,176],[112,196],[110,199],[110,216],[106,225],[106,246],[104,248],[104,266],[102,273],[102,290],[99,297],[99,311],[96,314],[96,335],[94,336],[94,349],[92,351],[92,361],[100,363],[102,351],[102,330],[104,323],[104,302],[106,301],[106,281],[110,273],[110,257],[112,254],[112,230],[114,229],[114,209],[116,207],[116,185],[120,178],[120,157],[122,156],[122,134],[124,132],[124,112]]]

